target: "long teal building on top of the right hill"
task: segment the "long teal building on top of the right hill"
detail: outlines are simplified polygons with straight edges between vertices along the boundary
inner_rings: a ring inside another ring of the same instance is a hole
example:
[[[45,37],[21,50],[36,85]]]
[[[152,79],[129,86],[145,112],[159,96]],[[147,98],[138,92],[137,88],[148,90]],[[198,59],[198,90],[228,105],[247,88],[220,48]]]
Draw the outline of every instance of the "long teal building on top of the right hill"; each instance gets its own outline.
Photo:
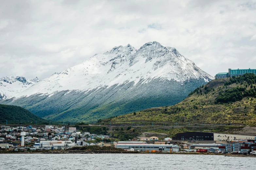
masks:
[[[224,72],[224,73],[218,73],[216,76],[214,76],[216,79],[218,78],[227,78],[227,77],[232,77],[232,76],[242,76],[245,73],[253,73],[256,75],[256,69],[235,69],[232,70],[229,68],[229,72]]]

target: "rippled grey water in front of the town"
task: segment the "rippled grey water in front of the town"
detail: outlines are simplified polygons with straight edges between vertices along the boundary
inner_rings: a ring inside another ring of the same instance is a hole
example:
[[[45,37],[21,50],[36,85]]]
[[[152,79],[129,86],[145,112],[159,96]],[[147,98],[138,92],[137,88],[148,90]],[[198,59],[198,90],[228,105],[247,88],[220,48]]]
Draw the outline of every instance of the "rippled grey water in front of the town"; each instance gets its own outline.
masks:
[[[179,154],[0,154],[0,170],[255,169],[256,158]]]

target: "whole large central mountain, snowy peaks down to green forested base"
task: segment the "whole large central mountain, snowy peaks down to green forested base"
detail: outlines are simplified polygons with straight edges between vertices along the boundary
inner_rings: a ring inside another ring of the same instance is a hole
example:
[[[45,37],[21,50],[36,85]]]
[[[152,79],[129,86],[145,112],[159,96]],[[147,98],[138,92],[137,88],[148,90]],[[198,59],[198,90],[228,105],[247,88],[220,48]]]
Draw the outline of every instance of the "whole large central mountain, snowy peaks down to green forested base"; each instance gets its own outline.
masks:
[[[95,121],[173,105],[211,79],[175,48],[154,41],[95,54],[2,103],[53,120]]]

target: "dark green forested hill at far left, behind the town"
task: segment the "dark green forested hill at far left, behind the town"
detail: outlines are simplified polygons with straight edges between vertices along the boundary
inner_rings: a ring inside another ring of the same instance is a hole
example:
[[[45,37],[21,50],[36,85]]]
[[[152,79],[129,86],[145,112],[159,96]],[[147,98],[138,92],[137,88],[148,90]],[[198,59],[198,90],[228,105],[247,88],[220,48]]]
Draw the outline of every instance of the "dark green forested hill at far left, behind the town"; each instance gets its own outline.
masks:
[[[40,118],[30,111],[19,107],[11,105],[0,105],[0,123],[5,124],[8,120],[8,124],[48,124],[48,120]]]

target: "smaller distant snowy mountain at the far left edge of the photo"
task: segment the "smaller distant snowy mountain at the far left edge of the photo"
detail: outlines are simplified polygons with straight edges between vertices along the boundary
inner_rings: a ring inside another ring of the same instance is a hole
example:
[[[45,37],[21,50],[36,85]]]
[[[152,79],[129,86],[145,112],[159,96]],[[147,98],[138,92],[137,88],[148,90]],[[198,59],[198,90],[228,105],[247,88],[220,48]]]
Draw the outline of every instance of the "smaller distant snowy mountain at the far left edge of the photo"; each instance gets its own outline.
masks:
[[[16,75],[0,78],[0,100],[11,98],[38,81],[39,79],[37,77],[26,80],[25,77]]]

